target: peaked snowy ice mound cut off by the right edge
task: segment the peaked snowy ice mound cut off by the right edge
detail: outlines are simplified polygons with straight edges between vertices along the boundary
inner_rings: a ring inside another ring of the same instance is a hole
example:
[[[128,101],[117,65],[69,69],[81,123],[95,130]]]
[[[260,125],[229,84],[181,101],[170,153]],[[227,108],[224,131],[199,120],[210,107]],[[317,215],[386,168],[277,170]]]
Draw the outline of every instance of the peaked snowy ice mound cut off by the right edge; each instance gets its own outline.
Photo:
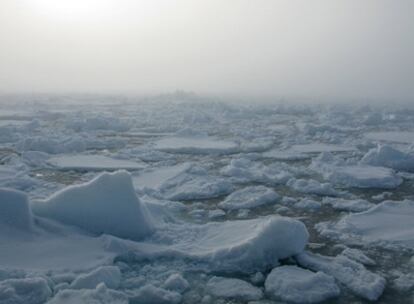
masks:
[[[361,159],[361,163],[401,171],[414,171],[414,155],[386,145],[379,145],[377,148],[369,150]]]

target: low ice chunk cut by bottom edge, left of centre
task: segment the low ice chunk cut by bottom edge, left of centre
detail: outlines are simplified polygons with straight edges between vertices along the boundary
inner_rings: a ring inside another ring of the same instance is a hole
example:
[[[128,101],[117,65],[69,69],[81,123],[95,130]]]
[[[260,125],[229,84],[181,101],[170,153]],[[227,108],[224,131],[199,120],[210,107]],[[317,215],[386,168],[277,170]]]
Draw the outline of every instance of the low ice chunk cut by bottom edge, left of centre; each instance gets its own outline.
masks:
[[[178,304],[181,303],[181,300],[182,296],[179,293],[150,284],[141,287],[135,295],[130,297],[130,303],[132,304]]]

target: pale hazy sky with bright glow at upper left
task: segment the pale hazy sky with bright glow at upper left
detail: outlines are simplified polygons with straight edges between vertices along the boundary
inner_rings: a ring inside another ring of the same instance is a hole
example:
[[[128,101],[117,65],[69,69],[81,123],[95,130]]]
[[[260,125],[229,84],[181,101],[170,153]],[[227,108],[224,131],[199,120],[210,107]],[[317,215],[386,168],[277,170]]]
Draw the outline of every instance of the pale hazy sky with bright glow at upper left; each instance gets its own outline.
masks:
[[[414,0],[0,0],[0,91],[414,98]]]

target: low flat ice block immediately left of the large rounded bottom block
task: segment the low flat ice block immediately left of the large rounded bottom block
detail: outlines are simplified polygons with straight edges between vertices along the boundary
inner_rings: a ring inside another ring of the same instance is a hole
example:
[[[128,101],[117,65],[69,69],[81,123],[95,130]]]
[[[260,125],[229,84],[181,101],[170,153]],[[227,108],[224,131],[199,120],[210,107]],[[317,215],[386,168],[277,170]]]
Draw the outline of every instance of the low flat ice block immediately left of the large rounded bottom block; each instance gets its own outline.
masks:
[[[234,278],[212,277],[207,282],[206,291],[218,298],[240,301],[260,300],[263,297],[261,289]]]

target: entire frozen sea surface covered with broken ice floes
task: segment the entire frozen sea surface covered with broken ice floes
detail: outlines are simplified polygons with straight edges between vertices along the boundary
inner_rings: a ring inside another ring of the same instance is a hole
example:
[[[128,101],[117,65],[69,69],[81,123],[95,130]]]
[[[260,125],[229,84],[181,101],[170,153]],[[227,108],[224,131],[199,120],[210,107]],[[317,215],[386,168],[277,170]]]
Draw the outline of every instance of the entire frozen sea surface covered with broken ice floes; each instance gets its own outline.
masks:
[[[0,303],[412,303],[409,107],[8,98]]]

